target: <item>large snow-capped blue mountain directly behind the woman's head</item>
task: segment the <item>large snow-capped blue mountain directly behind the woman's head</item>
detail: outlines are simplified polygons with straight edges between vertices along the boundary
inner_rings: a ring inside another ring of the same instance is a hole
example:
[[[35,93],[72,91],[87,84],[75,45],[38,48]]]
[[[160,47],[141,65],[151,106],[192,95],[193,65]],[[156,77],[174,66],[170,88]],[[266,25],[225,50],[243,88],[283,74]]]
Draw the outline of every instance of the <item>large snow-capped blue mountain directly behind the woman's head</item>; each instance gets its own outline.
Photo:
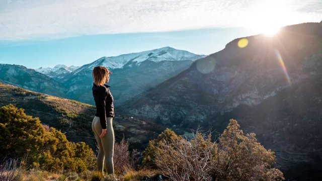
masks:
[[[109,84],[118,105],[137,99],[139,95],[187,69],[193,61],[202,57],[204,56],[171,47],[102,57],[69,73],[61,81],[68,89],[66,94],[70,99],[94,104],[91,91],[92,70],[95,66],[105,66],[113,72]]]

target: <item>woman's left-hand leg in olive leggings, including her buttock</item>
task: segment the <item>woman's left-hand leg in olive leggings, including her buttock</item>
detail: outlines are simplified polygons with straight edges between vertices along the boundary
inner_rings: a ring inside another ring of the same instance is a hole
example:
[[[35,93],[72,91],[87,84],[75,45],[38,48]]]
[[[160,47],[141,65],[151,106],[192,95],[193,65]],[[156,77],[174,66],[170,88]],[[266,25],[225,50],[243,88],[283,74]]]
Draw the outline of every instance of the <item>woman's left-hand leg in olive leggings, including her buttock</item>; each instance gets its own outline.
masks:
[[[100,118],[95,116],[94,120],[93,120],[93,123],[92,123],[92,130],[95,133],[97,145],[99,147],[99,153],[98,153],[97,158],[96,158],[96,164],[97,164],[97,169],[100,172],[103,173],[104,150],[103,150],[102,141],[101,141],[101,138],[100,138],[100,135],[102,133],[102,127],[100,129],[100,133],[98,133],[98,131],[99,131],[98,128],[95,128],[95,127],[98,127],[98,126],[96,126],[97,124],[101,124],[100,123]],[[98,131],[96,131],[96,130],[98,130]]]

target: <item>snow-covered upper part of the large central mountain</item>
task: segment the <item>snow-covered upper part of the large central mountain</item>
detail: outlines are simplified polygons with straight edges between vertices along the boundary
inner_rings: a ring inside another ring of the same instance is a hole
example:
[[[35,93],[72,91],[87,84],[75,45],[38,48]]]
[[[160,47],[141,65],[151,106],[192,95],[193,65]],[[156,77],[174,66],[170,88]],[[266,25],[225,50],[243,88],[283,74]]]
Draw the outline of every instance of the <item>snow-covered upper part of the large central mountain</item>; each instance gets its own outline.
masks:
[[[192,60],[195,61],[199,58],[203,58],[205,55],[196,55],[185,50],[177,50],[172,47],[163,47],[159,49],[143,51],[139,53],[129,53],[113,57],[102,57],[93,63],[82,66],[73,72],[76,74],[83,70],[92,69],[95,66],[104,66],[109,69],[122,68],[128,63],[140,64],[145,60],[150,60],[153,62],[159,61],[182,61],[182,60]],[[131,65],[129,65],[131,66]]]

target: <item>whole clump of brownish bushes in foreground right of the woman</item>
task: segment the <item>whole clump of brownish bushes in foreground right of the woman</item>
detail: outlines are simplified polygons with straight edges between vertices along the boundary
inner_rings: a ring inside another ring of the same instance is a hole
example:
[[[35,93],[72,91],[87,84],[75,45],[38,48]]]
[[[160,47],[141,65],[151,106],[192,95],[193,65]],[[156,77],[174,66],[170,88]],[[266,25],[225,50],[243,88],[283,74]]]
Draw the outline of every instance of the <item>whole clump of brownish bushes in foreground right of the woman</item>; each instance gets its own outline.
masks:
[[[211,134],[197,131],[186,140],[167,129],[150,142],[143,156],[172,180],[284,179],[280,170],[271,168],[274,152],[257,143],[254,133],[245,136],[235,120],[218,142],[211,141]]]

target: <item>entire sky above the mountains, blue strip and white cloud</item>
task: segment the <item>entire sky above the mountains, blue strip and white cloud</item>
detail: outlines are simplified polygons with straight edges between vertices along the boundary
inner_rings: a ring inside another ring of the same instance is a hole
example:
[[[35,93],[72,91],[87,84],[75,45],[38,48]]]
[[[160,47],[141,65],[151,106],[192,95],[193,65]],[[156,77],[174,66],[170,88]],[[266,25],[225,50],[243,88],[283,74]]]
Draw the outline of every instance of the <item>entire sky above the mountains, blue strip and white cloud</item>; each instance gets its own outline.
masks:
[[[0,63],[81,66],[165,46],[207,55],[321,20],[322,0],[0,0]]]

